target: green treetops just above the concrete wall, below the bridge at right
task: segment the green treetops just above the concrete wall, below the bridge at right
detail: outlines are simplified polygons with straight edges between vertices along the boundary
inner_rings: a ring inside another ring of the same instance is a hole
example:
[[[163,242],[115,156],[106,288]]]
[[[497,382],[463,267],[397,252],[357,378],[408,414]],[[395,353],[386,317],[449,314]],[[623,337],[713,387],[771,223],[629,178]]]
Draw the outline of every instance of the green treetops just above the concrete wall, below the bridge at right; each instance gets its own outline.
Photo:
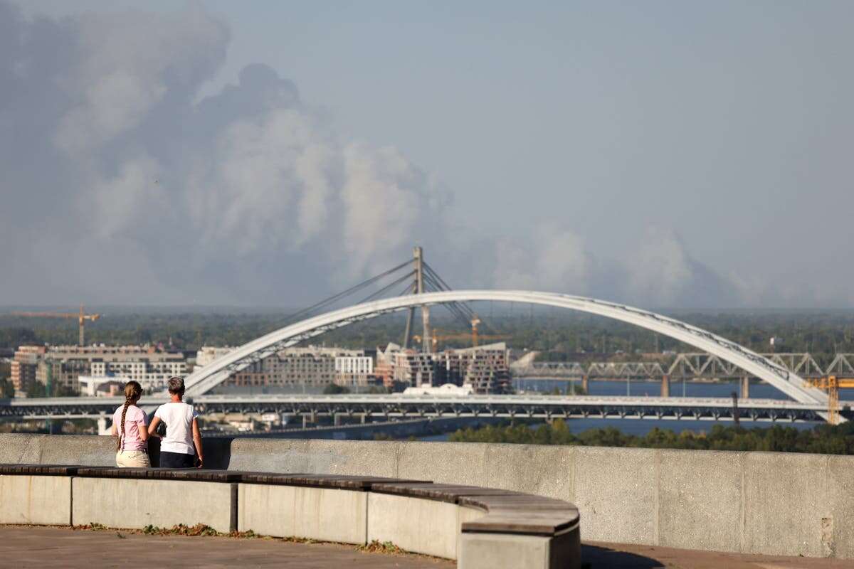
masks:
[[[646,435],[623,433],[615,427],[572,433],[563,420],[531,427],[524,423],[461,429],[450,435],[458,443],[568,444],[579,446],[637,447],[688,450],[766,450],[854,455],[854,421],[843,425],[818,425],[801,431],[775,425],[768,428],[724,427],[711,431],[682,431],[655,427]]]

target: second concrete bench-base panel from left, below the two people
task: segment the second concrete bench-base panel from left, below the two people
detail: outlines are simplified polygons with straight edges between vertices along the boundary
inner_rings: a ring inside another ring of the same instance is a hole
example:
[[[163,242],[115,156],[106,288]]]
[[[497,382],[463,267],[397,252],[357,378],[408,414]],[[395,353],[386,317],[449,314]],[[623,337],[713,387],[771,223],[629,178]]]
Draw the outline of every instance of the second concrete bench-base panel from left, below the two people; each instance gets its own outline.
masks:
[[[71,519],[73,524],[134,529],[205,524],[216,531],[231,531],[231,503],[229,484],[74,478]]]

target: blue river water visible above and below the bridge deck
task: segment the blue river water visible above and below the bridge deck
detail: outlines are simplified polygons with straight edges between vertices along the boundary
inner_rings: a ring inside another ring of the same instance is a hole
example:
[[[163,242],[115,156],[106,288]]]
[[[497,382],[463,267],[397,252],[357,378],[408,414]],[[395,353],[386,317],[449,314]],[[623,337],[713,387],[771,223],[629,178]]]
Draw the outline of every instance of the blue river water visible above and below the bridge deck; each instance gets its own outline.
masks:
[[[561,392],[566,392],[567,387],[570,387],[570,380],[513,380],[513,387],[516,392],[552,392],[555,387]],[[581,386],[581,381],[575,381],[576,386]],[[733,392],[738,393],[740,384],[738,382],[720,382],[720,383],[701,383],[685,381],[670,382],[671,397],[714,397],[728,398],[732,397]],[[661,395],[660,381],[588,381],[588,393],[590,395],[632,395],[632,396],[649,396],[659,397]],[[778,390],[774,386],[759,381],[751,381],[750,398],[752,399],[789,399],[787,395]],[[854,400],[854,389],[840,390],[839,399]],[[693,419],[684,419],[681,421],[666,421],[658,419],[570,419],[567,420],[567,425],[573,433],[582,433],[588,429],[600,429],[605,427],[615,427],[626,434],[645,435],[658,427],[662,429],[670,429],[675,433],[682,431],[708,432],[714,425],[722,425],[723,427],[732,427],[733,421],[695,421]],[[763,428],[770,427],[773,423],[759,421],[741,421],[741,427],[747,428]],[[786,427],[795,427],[796,429],[805,430],[815,427],[818,423],[801,422],[777,423]],[[432,435],[421,438],[420,440],[443,441],[447,440],[447,434]]]

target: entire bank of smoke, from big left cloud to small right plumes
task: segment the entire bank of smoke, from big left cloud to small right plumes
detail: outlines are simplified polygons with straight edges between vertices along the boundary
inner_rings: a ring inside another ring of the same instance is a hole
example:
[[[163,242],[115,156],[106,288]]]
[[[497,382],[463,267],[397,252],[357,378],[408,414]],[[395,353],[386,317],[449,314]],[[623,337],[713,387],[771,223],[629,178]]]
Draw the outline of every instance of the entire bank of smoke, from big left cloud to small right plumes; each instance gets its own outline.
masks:
[[[421,242],[457,286],[739,302],[665,229],[623,262],[559,226],[454,240],[434,177],[343,140],[270,67],[199,100],[229,35],[197,6],[27,20],[0,0],[3,301],[301,305]]]

